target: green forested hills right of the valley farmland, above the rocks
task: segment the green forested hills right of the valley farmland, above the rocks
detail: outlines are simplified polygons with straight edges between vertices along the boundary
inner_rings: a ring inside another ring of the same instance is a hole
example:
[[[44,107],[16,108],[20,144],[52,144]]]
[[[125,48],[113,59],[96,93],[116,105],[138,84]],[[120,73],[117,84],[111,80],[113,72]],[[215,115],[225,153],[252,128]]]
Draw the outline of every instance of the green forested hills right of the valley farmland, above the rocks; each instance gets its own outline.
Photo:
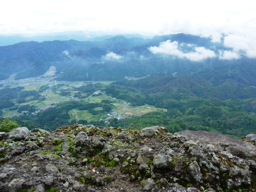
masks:
[[[111,126],[147,127],[159,125],[170,132],[190,129],[214,131],[242,136],[255,133],[256,88],[251,86],[217,85],[201,77],[154,76],[136,81],[117,81],[112,87],[116,97],[129,88],[137,90],[141,102],[166,108],[121,121],[112,120]],[[126,88],[128,87],[128,88]],[[115,88],[115,89],[114,89]],[[120,91],[119,91],[119,89]],[[136,95],[135,94],[135,95]]]

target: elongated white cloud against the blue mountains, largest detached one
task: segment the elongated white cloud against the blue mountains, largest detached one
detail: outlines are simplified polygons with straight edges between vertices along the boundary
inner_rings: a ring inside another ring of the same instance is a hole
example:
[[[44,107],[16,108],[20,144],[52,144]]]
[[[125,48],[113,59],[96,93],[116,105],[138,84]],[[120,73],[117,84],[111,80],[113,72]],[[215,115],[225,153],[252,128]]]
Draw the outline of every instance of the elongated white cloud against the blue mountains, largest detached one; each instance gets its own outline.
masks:
[[[190,45],[189,45],[190,46]],[[183,52],[180,50],[178,42],[171,42],[171,40],[166,40],[166,42],[161,42],[159,46],[151,46],[149,50],[152,53],[162,53],[172,56],[177,56],[180,58],[190,59],[192,61],[200,61],[206,58],[215,57],[215,53],[212,50],[208,50],[205,47],[194,47],[194,51]]]

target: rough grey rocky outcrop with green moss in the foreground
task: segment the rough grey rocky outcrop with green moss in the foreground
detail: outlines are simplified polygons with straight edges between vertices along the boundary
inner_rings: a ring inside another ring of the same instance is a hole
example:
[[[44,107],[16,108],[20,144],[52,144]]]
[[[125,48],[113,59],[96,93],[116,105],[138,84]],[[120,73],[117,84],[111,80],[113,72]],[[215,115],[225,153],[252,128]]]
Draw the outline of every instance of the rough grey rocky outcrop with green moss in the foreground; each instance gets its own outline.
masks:
[[[255,135],[72,125],[1,133],[0,191],[254,191]]]

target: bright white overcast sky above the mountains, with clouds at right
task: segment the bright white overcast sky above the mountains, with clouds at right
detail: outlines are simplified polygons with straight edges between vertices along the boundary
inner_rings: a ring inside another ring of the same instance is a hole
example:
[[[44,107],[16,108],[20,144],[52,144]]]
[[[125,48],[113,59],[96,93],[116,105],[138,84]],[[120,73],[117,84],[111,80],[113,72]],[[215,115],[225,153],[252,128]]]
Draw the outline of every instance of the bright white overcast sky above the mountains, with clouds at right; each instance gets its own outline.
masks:
[[[0,35],[84,31],[189,33],[256,57],[254,0],[1,0]]]

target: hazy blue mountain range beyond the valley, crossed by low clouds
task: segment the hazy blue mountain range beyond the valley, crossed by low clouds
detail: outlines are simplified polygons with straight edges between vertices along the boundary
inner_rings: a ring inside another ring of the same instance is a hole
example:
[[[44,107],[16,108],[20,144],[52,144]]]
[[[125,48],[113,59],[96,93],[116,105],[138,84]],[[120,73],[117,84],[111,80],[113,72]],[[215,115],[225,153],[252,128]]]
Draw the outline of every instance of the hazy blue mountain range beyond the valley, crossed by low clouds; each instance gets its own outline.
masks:
[[[37,77],[53,65],[56,80],[122,80],[157,73],[199,76],[213,84],[254,86],[255,59],[211,38],[178,33],[98,37],[98,41],[53,40],[0,46],[0,79]]]

